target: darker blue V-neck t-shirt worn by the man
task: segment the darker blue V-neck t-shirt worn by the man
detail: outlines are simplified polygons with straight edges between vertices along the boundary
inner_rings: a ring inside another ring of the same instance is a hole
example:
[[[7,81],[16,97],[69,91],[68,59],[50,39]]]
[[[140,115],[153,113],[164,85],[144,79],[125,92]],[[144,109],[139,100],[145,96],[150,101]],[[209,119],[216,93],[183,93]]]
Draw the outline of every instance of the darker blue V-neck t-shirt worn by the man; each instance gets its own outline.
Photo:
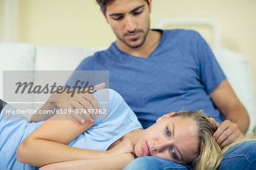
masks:
[[[161,30],[157,30],[161,31]],[[203,110],[222,122],[209,94],[226,79],[210,47],[196,31],[164,30],[147,58],[109,49],[86,57],[76,71],[109,71],[109,88],[133,109],[143,128],[163,114]]]

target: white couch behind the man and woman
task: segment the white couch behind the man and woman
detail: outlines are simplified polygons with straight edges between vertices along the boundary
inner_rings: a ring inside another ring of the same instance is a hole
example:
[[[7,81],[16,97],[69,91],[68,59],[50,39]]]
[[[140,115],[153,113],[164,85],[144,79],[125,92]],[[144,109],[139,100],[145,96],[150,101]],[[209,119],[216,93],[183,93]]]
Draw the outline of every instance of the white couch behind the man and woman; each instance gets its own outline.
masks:
[[[1,43],[0,78],[3,80],[3,71],[73,71],[82,59],[103,49],[106,47],[35,46],[26,43]],[[253,129],[256,126],[255,92],[247,59],[236,52],[225,49],[216,49],[213,52],[234,92],[246,107],[250,115],[249,128],[250,130]],[[37,77],[32,74],[30,78],[31,81],[36,81]],[[5,100],[3,90],[3,81],[1,81],[0,98]],[[38,109],[35,108],[33,98],[31,98],[31,107]]]

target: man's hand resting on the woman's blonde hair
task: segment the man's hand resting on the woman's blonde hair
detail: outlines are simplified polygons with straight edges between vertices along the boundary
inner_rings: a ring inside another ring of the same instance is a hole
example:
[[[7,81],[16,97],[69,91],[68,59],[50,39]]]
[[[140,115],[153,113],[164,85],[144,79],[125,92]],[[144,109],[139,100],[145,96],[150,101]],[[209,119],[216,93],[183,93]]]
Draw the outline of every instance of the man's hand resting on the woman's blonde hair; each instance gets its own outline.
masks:
[[[236,142],[244,137],[236,123],[225,120],[220,124],[213,118],[210,118],[210,120],[218,127],[216,132],[213,134],[213,138],[216,140],[220,148],[224,148],[230,143]]]

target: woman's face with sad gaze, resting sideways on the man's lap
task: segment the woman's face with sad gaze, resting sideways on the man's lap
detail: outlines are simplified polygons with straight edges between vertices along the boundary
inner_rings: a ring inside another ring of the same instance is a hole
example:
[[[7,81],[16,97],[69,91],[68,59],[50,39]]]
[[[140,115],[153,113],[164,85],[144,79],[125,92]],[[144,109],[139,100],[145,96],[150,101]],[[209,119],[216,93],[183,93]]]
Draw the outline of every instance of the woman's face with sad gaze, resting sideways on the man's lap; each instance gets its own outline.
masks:
[[[197,154],[199,139],[195,124],[189,119],[169,115],[143,131],[135,144],[136,156],[156,156],[188,164]]]

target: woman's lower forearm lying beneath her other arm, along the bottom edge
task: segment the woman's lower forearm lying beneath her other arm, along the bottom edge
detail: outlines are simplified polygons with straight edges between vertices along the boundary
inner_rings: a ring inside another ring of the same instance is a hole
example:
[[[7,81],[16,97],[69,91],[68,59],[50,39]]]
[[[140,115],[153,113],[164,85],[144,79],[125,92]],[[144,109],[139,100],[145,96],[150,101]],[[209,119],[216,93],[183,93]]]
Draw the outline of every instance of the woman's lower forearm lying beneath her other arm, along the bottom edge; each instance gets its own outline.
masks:
[[[65,161],[62,163],[45,165],[40,170],[51,170],[51,169],[123,169],[127,164],[134,160],[133,154],[121,154],[100,159],[86,159],[86,160],[73,160]]]

